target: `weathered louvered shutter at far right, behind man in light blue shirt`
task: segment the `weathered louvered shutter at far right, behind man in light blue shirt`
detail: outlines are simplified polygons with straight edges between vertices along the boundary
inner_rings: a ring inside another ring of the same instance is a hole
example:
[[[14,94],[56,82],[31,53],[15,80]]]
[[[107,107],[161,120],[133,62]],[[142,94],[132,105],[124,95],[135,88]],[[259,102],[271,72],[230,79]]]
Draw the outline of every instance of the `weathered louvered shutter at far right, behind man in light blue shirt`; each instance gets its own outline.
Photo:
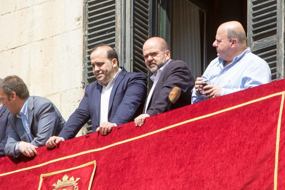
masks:
[[[284,78],[284,0],[248,0],[248,47],[264,59],[272,81]]]

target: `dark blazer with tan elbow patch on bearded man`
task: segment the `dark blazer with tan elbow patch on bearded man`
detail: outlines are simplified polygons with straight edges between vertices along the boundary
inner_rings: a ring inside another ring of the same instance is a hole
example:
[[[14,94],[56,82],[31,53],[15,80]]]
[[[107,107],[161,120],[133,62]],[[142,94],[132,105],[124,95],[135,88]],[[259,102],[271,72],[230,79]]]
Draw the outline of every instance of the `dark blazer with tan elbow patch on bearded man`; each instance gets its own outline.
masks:
[[[164,68],[152,97],[143,113],[150,116],[177,109],[191,104],[191,90],[194,88],[194,77],[188,65],[180,60],[171,60]]]

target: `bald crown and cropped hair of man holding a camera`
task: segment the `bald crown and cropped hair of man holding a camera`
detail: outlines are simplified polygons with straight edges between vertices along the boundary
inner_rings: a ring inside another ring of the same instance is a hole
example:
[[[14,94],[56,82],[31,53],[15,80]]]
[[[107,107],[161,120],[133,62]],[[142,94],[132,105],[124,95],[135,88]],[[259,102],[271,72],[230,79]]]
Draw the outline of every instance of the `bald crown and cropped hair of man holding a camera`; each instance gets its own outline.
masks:
[[[242,44],[244,46],[247,45],[247,36],[245,34],[245,30],[243,29],[243,26],[241,25],[241,23],[237,21],[230,21],[230,22],[221,24],[219,28],[227,31],[228,41],[231,41],[232,39],[235,38],[237,39],[237,42],[239,44]]]

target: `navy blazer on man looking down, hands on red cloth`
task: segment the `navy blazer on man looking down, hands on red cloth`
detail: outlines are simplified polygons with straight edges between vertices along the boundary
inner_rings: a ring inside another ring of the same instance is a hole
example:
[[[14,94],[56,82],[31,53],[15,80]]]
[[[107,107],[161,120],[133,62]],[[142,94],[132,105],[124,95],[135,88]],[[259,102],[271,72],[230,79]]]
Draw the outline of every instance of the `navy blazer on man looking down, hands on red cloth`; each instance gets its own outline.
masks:
[[[146,82],[144,74],[127,72],[122,68],[113,85],[109,99],[109,122],[121,125],[131,120],[146,97]],[[69,117],[58,136],[64,139],[74,138],[89,119],[92,122],[92,131],[96,131],[100,125],[102,88],[102,85],[97,81],[86,86],[84,97],[78,108]]]

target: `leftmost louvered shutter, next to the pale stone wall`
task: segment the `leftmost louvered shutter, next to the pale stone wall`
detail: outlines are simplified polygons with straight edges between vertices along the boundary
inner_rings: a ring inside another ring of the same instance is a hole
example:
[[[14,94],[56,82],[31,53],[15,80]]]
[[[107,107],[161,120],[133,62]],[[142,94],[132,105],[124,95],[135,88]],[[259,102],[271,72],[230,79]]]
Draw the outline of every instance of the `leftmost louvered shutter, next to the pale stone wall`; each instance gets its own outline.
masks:
[[[99,43],[116,48],[116,0],[89,0],[85,3],[85,85],[96,78],[92,72],[90,53]]]

